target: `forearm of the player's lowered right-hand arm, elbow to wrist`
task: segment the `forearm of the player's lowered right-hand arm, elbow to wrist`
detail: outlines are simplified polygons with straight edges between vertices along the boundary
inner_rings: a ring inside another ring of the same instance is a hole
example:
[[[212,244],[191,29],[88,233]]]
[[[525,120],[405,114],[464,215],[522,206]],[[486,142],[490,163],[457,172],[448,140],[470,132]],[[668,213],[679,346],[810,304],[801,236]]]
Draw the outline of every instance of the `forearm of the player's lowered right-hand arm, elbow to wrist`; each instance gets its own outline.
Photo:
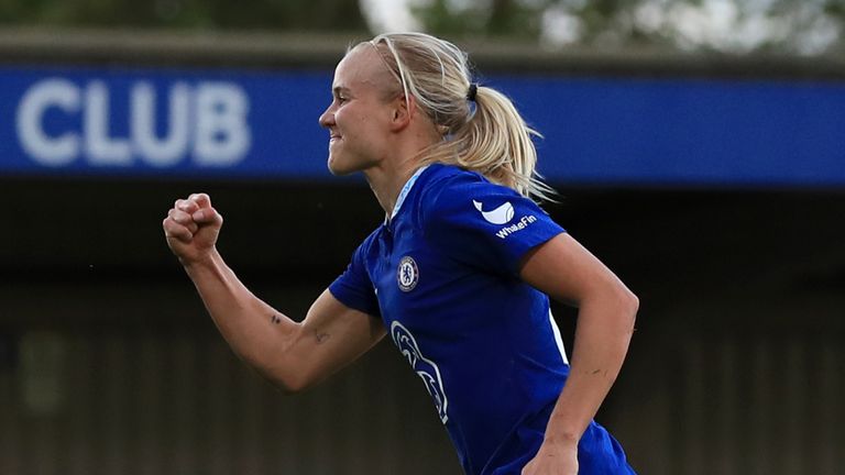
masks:
[[[582,302],[570,375],[551,413],[546,440],[578,443],[616,380],[634,331],[633,295]]]

